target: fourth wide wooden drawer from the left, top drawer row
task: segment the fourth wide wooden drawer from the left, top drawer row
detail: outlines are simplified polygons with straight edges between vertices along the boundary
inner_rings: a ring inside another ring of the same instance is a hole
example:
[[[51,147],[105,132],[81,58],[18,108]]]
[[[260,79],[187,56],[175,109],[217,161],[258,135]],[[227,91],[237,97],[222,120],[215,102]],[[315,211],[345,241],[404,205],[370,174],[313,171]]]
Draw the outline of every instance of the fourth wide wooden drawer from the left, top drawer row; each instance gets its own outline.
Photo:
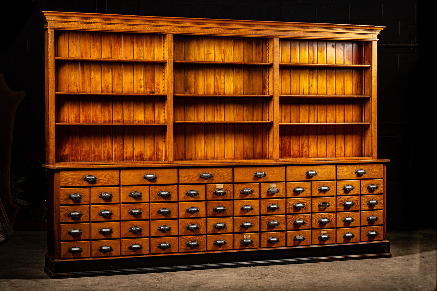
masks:
[[[285,167],[236,167],[234,182],[281,182],[285,181]]]

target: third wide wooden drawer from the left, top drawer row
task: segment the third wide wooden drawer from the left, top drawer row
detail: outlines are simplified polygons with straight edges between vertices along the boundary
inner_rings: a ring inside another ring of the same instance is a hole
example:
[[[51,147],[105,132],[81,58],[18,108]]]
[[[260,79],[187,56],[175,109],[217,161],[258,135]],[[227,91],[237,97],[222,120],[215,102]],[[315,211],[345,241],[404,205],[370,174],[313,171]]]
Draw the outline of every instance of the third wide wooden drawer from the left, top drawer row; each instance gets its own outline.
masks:
[[[232,183],[232,168],[179,169],[179,184]]]

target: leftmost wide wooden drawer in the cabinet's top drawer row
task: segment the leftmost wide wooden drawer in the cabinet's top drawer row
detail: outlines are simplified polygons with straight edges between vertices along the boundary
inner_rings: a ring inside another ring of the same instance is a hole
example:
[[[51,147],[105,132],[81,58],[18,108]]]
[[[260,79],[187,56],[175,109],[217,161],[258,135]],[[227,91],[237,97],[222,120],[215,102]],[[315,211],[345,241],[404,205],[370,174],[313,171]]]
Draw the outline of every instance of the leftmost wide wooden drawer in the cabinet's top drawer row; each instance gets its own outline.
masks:
[[[111,186],[120,182],[118,170],[61,171],[61,187]]]

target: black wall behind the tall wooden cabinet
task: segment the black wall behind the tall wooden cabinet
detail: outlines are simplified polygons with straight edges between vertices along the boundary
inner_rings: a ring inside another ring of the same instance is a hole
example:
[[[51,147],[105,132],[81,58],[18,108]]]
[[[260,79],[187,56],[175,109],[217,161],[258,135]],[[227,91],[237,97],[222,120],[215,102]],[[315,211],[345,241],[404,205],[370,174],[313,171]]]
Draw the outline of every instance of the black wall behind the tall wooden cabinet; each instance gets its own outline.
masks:
[[[27,92],[17,109],[12,152],[17,229],[44,227],[47,184],[44,144],[44,42],[40,11],[199,17],[386,26],[378,41],[378,158],[387,165],[387,230],[435,227],[433,172],[426,136],[435,130],[419,92],[418,0],[24,0],[3,11],[0,72],[8,86]],[[426,46],[424,46],[426,48]],[[434,84],[430,84],[431,86]],[[426,96],[430,97],[430,96]],[[425,106],[429,107],[429,106]],[[426,173],[429,172],[429,173]],[[431,183],[432,181],[429,181]],[[429,208],[429,210],[427,210]],[[40,223],[38,223],[40,222]]]

